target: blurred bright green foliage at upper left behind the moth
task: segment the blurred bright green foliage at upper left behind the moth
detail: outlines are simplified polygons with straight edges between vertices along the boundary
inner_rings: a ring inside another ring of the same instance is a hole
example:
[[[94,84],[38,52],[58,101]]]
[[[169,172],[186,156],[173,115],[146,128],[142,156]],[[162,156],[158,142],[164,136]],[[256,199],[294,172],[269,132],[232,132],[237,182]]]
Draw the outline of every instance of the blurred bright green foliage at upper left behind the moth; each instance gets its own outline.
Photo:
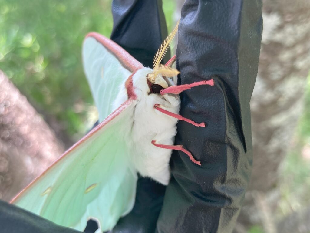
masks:
[[[111,2],[0,0],[0,69],[75,140],[90,127],[86,118],[93,103],[82,70],[82,41],[90,31],[110,36]],[[164,1],[163,7],[171,28],[174,2]]]

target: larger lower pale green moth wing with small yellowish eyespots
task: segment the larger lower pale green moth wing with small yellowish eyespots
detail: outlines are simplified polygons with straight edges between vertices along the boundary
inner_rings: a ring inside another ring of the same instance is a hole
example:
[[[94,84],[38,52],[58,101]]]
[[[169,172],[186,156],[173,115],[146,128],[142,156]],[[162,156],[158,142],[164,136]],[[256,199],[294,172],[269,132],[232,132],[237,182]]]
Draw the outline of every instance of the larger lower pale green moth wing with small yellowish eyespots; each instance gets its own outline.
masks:
[[[134,107],[135,100],[123,103],[12,203],[80,231],[90,218],[101,232],[112,229],[135,201],[137,175],[126,146]]]

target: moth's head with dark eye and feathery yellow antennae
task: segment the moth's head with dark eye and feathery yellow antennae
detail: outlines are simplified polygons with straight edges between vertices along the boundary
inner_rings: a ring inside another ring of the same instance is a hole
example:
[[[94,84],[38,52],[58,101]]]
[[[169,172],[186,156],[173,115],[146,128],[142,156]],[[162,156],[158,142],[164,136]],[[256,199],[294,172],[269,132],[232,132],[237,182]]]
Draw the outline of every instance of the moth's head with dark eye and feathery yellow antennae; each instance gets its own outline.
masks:
[[[164,40],[155,54],[153,60],[153,72],[147,76],[148,85],[152,93],[159,93],[160,90],[166,89],[171,83],[168,78],[171,78],[180,73],[178,70],[172,68],[171,66],[165,66],[161,64],[162,59],[165,57],[165,54],[169,49],[170,43],[178,31],[178,26],[179,22],[175,26],[175,29]]]

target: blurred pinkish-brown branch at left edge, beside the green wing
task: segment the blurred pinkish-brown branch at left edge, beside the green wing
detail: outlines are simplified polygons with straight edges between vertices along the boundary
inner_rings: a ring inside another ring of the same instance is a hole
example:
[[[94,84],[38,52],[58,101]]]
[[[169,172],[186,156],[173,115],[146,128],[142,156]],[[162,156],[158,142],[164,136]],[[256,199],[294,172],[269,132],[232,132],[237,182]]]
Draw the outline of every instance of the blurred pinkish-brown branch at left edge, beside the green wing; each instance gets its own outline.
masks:
[[[0,198],[9,201],[63,151],[54,132],[0,71]]]

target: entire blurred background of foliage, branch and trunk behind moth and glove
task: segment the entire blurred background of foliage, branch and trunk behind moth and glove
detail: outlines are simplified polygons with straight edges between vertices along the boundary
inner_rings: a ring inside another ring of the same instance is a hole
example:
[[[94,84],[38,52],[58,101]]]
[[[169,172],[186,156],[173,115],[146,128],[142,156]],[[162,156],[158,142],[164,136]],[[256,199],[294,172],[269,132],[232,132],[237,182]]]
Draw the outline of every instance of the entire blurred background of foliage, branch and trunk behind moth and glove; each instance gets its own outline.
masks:
[[[184,0],[163,0],[168,31]],[[264,0],[251,99],[253,173],[235,233],[310,232],[310,2]],[[0,0],[0,198],[9,201],[97,120],[81,62],[111,0]],[[210,22],[211,23],[211,22]]]

